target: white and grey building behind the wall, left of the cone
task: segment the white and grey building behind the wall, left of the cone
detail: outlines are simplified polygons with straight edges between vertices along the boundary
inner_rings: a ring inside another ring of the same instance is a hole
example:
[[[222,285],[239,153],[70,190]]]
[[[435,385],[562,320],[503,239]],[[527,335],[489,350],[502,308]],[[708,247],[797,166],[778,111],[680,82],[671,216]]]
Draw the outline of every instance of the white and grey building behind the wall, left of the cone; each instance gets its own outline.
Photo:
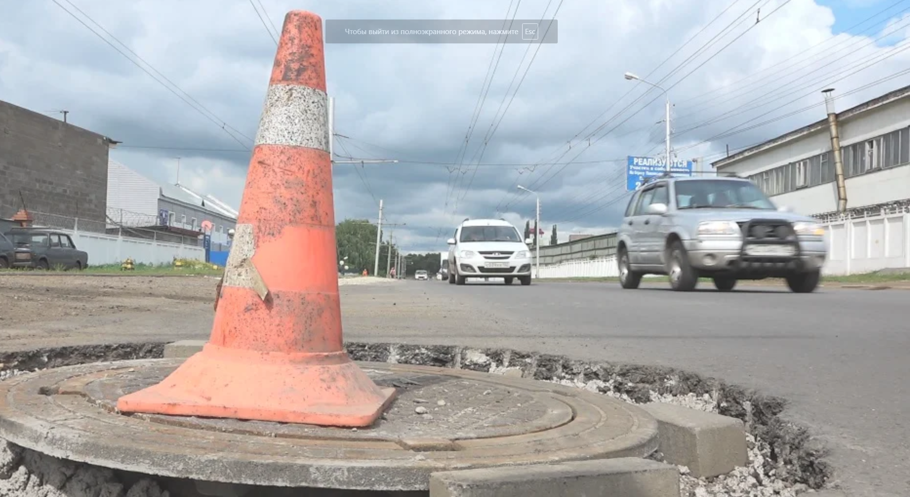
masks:
[[[114,160],[107,167],[107,217],[115,226],[148,228],[201,245],[203,222],[212,223],[212,249],[226,250],[238,211],[183,185],[159,185]],[[160,237],[160,235],[159,235]]]

